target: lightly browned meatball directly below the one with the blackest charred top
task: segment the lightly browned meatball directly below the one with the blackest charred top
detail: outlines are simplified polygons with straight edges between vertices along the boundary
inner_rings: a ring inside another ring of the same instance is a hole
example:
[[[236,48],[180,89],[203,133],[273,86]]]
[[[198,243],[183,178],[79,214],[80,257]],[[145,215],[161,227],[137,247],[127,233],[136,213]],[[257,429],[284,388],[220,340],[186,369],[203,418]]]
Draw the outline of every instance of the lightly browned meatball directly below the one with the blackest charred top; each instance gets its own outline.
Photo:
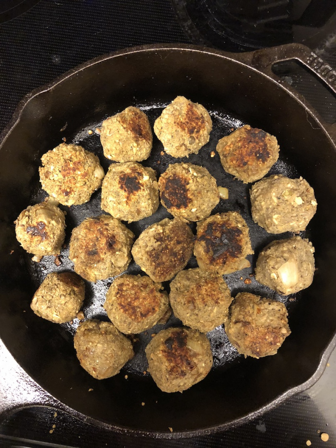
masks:
[[[175,316],[203,333],[224,322],[232,301],[223,277],[200,268],[179,272],[170,283],[169,298]]]

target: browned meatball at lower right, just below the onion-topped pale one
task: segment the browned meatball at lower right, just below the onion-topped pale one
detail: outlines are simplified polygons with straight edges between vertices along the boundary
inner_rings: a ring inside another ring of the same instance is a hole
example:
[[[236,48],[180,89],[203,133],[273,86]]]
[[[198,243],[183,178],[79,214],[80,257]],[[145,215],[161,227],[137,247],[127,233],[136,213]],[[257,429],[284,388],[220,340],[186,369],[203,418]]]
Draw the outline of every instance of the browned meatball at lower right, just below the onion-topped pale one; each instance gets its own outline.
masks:
[[[240,354],[254,358],[275,355],[291,333],[283,303],[250,293],[233,301],[225,331]]]

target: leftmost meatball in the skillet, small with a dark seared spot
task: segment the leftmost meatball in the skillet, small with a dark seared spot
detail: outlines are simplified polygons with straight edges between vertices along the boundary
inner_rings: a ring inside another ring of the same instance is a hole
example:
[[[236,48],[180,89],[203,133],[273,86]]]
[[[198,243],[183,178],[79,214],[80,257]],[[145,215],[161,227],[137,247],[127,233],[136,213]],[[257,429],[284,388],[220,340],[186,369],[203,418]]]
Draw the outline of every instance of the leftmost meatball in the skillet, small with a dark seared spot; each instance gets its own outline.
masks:
[[[60,253],[65,238],[65,212],[57,205],[48,198],[21,211],[15,221],[17,240],[30,254],[43,257]]]

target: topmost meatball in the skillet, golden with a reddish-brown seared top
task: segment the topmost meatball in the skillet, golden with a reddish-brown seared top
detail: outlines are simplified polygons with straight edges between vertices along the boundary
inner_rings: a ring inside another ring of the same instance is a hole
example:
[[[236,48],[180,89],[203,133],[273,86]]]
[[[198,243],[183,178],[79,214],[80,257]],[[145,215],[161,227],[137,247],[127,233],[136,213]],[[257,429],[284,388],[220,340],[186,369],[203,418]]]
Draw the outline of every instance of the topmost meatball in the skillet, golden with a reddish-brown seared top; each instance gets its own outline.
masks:
[[[155,120],[154,132],[172,157],[197,154],[210,138],[212,121],[201,104],[178,96]]]

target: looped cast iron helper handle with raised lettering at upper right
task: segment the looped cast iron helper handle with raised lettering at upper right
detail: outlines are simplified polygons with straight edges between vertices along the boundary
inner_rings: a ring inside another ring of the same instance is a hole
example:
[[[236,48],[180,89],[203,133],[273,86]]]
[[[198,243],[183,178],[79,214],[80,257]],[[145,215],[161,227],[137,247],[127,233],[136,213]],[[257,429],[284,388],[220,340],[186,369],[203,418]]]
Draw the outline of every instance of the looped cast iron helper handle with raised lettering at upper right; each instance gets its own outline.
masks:
[[[305,45],[293,43],[287,45],[280,45],[274,48],[264,48],[256,50],[251,53],[245,53],[243,56],[249,58],[247,62],[251,67],[263,72],[265,75],[279,81],[279,77],[272,72],[272,66],[281,61],[296,60],[303,64],[309,71],[313,72],[321,81],[329,87],[329,89],[336,94],[336,70],[329,64],[323,61],[316,53]],[[306,107],[304,98],[295,89],[286,85],[286,89],[290,90],[304,107]],[[310,106],[312,110],[312,106]],[[318,121],[336,142],[336,123],[327,123],[325,120],[314,111]]]

